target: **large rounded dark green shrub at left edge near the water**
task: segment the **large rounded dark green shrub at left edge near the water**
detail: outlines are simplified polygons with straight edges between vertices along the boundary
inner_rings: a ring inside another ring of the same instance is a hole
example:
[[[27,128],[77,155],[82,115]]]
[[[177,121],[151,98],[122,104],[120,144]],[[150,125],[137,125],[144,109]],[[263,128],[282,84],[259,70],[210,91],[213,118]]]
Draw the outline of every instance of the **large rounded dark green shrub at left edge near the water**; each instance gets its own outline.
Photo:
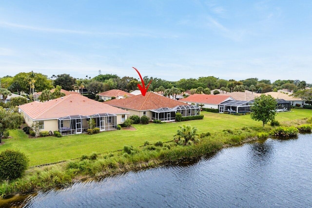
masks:
[[[0,180],[12,180],[22,176],[28,166],[28,158],[20,151],[5,150],[0,153]]]

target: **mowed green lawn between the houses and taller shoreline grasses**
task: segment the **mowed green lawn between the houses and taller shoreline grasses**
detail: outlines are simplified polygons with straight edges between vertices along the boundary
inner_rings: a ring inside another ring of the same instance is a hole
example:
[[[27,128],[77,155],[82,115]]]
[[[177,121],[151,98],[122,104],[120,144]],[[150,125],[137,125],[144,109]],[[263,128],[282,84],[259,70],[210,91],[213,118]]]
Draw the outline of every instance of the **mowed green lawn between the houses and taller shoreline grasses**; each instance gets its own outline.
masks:
[[[151,144],[162,141],[172,141],[178,126],[190,124],[197,127],[198,132],[221,132],[225,129],[240,129],[242,127],[262,127],[262,123],[254,121],[250,115],[230,115],[222,113],[201,112],[203,120],[171,122],[166,124],[133,125],[136,130],[119,130],[100,132],[94,135],[77,134],[61,138],[41,137],[28,138],[22,130],[10,131],[12,138],[3,139],[0,151],[16,149],[24,152],[30,159],[30,166],[56,163],[63,160],[76,159],[81,155],[90,155],[92,152],[106,153],[120,151],[124,145],[134,147],[144,145],[145,141]],[[277,113],[276,120],[287,123],[297,119],[312,117],[312,110],[292,109],[292,112]]]

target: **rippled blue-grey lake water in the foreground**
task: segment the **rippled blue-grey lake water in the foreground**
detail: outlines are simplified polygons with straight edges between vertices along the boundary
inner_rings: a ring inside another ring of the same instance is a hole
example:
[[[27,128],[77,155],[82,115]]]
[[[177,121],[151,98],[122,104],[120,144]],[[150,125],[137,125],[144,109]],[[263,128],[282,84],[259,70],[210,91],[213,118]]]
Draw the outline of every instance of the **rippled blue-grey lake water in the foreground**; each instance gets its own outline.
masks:
[[[312,134],[219,151],[192,165],[38,192],[8,207],[312,207]]]

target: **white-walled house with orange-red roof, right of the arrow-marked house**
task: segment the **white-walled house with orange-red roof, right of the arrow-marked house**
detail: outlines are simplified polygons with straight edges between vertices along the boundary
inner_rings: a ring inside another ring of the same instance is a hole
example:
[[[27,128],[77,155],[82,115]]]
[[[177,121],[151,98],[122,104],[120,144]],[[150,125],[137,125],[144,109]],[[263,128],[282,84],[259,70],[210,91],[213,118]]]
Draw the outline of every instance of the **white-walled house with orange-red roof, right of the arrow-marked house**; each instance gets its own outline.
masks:
[[[234,100],[234,98],[229,95],[194,94],[179,101],[188,104],[194,103],[196,106],[203,105],[202,108],[219,109],[219,105],[227,100]]]

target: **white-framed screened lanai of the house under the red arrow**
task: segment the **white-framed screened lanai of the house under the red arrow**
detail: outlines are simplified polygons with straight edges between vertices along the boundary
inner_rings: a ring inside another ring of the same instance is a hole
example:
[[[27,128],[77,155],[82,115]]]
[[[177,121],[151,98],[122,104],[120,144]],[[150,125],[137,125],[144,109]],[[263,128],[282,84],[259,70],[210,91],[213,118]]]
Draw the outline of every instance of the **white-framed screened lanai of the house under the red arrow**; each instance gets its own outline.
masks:
[[[160,121],[175,121],[176,113],[181,113],[182,116],[199,115],[200,108],[194,105],[180,105],[175,108],[158,108],[151,110],[152,120]]]

